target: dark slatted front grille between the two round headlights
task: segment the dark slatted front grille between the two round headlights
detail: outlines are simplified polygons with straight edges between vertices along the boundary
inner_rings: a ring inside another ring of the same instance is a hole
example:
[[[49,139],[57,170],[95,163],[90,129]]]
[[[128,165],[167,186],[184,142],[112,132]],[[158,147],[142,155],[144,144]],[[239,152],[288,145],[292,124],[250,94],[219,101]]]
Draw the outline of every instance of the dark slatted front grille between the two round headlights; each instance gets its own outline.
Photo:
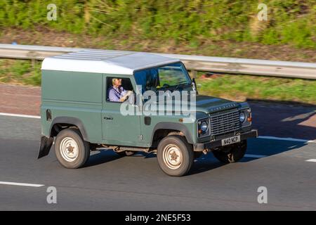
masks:
[[[239,111],[211,115],[211,135],[226,134],[240,128]]]

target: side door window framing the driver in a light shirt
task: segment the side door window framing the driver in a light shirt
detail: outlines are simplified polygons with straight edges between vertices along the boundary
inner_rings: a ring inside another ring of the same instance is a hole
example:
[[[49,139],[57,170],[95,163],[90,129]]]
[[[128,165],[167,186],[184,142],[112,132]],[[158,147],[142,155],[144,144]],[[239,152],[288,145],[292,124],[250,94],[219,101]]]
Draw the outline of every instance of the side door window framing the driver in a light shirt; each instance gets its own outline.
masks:
[[[107,77],[106,99],[109,102],[121,103],[124,97],[133,90],[131,79],[125,77]]]

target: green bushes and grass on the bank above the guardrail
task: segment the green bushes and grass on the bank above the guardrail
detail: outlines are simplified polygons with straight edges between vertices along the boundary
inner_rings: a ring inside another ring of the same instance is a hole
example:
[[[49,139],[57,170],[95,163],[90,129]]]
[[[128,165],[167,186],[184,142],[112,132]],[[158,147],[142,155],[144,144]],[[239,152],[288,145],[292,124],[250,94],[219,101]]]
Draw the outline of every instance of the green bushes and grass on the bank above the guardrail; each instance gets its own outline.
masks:
[[[174,39],[198,45],[203,39],[291,44],[316,49],[314,0],[269,0],[268,21],[258,21],[258,0],[29,0],[0,1],[0,26],[48,26],[76,34]],[[46,6],[58,7],[48,21]]]

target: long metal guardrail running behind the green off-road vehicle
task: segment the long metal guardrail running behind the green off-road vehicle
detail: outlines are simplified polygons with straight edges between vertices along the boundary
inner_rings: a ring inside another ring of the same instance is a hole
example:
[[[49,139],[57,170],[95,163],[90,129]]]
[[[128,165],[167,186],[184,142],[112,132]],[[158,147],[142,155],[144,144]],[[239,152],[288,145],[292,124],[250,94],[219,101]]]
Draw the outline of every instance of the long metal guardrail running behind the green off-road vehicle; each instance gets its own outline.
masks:
[[[57,56],[62,53],[82,50],[87,49],[0,44],[0,58],[43,60],[48,56]],[[185,66],[188,70],[316,79],[316,63],[210,56],[189,56],[165,53],[154,54],[171,58],[178,58],[183,61],[183,63],[185,63]]]

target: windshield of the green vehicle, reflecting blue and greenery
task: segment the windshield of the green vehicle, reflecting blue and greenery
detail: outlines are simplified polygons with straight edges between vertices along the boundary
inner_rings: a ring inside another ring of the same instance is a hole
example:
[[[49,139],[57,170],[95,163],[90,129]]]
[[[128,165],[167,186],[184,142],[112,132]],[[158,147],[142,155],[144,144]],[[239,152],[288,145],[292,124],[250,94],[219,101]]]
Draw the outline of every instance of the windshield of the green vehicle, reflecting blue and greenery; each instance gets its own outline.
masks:
[[[135,72],[135,79],[142,91],[159,91],[177,89],[180,86],[191,85],[190,76],[182,63],[173,63],[158,68]]]

